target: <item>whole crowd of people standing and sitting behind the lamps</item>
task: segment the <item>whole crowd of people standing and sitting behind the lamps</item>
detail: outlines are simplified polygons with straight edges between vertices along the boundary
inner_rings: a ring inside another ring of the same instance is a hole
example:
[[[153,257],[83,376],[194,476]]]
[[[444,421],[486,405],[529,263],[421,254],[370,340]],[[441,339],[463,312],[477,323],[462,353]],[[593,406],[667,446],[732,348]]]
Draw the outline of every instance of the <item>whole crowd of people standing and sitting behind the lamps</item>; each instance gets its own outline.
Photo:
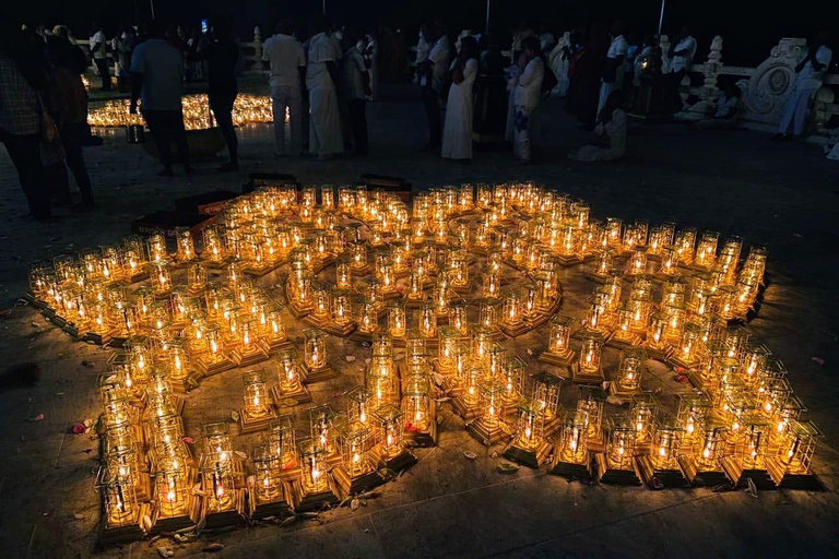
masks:
[[[220,17],[203,31],[184,32],[158,22],[125,26],[110,38],[93,24],[88,52],[63,26],[50,31],[5,27],[0,37],[0,141],[37,219],[49,218],[54,205],[72,204],[68,169],[81,194],[74,209],[95,207],[82,150],[91,141],[82,82],[90,64],[108,90],[114,61],[117,86],[130,88],[130,110],[142,111],[157,144],[163,177],[175,175],[173,144],[185,173],[192,173],[181,109],[184,83],[206,80],[209,108],[228,152],[218,170],[239,170],[232,111],[244,57],[229,17]],[[627,111],[642,78],[649,83],[652,75],[661,85],[663,111],[682,110],[680,85],[696,56],[697,41],[682,27],[671,41],[670,55],[663,56],[652,35],[627,33],[619,21],[608,29],[595,23],[557,40],[544,26],[534,29],[522,24],[503,56],[501,45],[488,36],[464,32],[456,38],[442,22],[423,25],[413,80],[428,120],[427,150],[447,159],[471,162],[473,136],[480,135],[476,127],[495,119],[515,159],[527,164],[539,144],[541,107],[553,95],[564,97],[565,109],[576,115],[582,129],[593,132],[591,141],[568,157],[621,158],[627,146]],[[367,104],[379,98],[380,74],[393,78],[399,75],[394,64],[407,68],[401,32],[381,37],[385,49],[376,31],[361,33],[330,25],[322,17],[311,19],[305,29],[291,21],[276,25],[262,44],[261,62],[273,104],[277,157],[308,154],[324,160],[339,154],[368,154]],[[803,132],[807,104],[832,58],[827,43],[827,34],[819,33],[802,56],[793,95],[773,139]],[[380,52],[387,53],[385,61],[379,60]],[[495,85],[499,88],[494,90]],[[487,100],[493,96],[498,98]],[[717,103],[709,105],[707,118],[696,126],[734,126],[740,96],[733,82],[722,83]]]

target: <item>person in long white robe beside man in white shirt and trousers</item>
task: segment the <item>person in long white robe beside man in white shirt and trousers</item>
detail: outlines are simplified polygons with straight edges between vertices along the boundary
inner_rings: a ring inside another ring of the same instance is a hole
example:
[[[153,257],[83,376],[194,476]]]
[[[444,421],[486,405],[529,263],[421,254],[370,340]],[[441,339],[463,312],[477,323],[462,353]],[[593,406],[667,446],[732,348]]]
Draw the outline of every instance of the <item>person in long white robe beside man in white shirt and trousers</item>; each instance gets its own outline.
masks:
[[[335,53],[322,20],[309,22],[309,56],[306,88],[309,90],[309,153],[330,159],[344,148],[338,106]]]

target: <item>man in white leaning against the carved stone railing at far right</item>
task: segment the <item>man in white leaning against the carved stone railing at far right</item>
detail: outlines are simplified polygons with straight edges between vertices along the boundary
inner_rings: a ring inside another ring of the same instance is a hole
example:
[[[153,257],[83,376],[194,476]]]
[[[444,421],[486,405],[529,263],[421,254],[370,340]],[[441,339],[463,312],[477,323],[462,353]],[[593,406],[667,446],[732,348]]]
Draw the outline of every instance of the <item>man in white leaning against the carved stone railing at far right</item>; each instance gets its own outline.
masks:
[[[795,67],[797,73],[795,84],[787,102],[787,110],[781,117],[778,133],[772,136],[772,140],[792,140],[793,135],[801,135],[804,132],[807,104],[822,87],[825,71],[834,58],[834,51],[827,47],[827,32],[819,32],[813,46],[807,49],[807,53]],[[790,133],[790,126],[792,126],[792,133]]]

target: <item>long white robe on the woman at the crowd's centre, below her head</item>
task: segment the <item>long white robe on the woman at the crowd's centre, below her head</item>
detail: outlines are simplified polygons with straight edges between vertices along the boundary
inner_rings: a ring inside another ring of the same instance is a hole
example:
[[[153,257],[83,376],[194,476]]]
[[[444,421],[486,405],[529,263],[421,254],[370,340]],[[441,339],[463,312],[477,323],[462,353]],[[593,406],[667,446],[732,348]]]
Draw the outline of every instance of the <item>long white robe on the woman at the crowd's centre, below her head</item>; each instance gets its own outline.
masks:
[[[452,63],[452,68],[457,64]],[[470,58],[463,69],[463,81],[452,83],[446,104],[441,155],[449,159],[472,158],[472,84],[477,75],[477,60]]]

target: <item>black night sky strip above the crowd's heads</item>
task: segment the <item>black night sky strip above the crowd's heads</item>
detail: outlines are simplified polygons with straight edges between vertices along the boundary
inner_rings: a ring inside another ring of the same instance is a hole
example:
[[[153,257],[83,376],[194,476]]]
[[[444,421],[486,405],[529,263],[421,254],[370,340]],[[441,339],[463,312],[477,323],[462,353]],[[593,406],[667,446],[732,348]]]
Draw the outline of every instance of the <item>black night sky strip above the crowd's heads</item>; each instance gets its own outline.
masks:
[[[7,0],[10,4],[14,0]],[[507,47],[508,31],[522,19],[532,25],[546,24],[559,32],[577,24],[600,20],[627,21],[630,31],[654,33],[661,9],[660,0],[601,0],[569,2],[562,0],[492,0],[492,32],[504,38]],[[47,25],[63,23],[79,38],[86,38],[92,21],[98,21],[106,32],[120,23],[137,23],[150,15],[150,0],[31,0],[15,2],[12,8],[21,12],[20,21]],[[268,37],[280,17],[292,17],[303,24],[309,15],[321,10],[322,0],[154,0],[157,17],[177,21],[185,27],[198,26],[203,17],[233,14],[241,40],[251,40],[255,25]],[[366,28],[371,25],[402,28],[411,43],[420,23],[442,19],[451,32],[461,28],[483,29],[486,0],[327,0],[330,19],[347,25]],[[7,14],[9,15],[9,14]],[[804,2],[758,2],[754,0],[667,0],[664,33],[673,35],[686,23],[699,40],[697,57],[701,61],[710,39],[720,34],[724,38],[723,62],[754,66],[761,61],[780,37],[811,37],[819,25],[836,27],[839,2],[807,0]],[[836,35],[836,33],[835,33]],[[836,39],[836,37],[835,37]],[[834,40],[836,43],[836,40]],[[836,45],[834,45],[836,49]]]

